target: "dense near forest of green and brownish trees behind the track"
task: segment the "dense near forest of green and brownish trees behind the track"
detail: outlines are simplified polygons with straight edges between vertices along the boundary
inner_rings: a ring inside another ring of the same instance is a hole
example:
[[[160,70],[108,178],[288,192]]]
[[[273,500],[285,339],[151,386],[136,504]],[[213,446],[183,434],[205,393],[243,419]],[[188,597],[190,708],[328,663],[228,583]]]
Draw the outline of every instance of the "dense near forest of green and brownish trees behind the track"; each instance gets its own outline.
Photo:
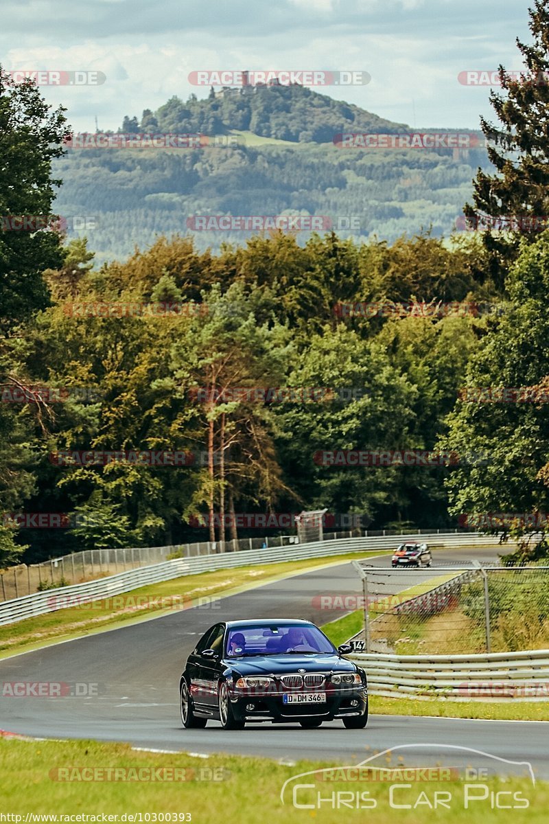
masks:
[[[535,45],[519,44],[536,76],[549,70],[546,18],[537,3]],[[549,87],[527,87],[502,69],[492,102],[499,124],[482,128],[495,172],[477,171],[465,213],[471,221],[547,215],[549,141],[537,113],[549,112]],[[2,213],[52,212],[66,131],[63,109],[52,112],[31,82],[15,86],[0,73]],[[104,178],[95,160],[80,162],[90,164],[97,208],[109,199],[111,173],[128,208],[134,173],[151,194],[156,175],[174,196],[202,186],[200,203],[212,208],[219,180],[208,190],[197,163],[226,162],[233,180],[268,180],[269,164],[260,172],[263,154],[254,152],[159,155],[148,161],[150,177],[142,160],[111,158]],[[312,187],[319,157],[291,157],[305,161],[282,185],[300,185],[295,176],[309,169]],[[426,155],[417,157],[429,176]],[[352,162],[380,185],[374,162]],[[334,192],[321,196],[336,203],[350,178],[337,162],[327,174]],[[328,508],[361,513],[370,528],[547,513],[549,232],[522,218],[506,232],[451,241],[419,232],[391,244],[273,231],[203,250],[175,234],[99,267],[93,240],[88,249],[55,228],[0,233],[0,562],[222,541],[235,530],[215,527],[212,516],[222,522],[226,513]],[[268,387],[283,387],[286,398],[261,396]],[[320,396],[307,396],[315,389]],[[437,466],[319,459],[349,450],[449,458]],[[120,458],[144,451],[193,460]],[[119,458],[95,461],[105,452]],[[10,513],[66,513],[71,528],[18,529]],[[209,530],[193,527],[199,514]],[[523,534],[520,519],[511,531]],[[545,547],[543,537],[520,557]]]

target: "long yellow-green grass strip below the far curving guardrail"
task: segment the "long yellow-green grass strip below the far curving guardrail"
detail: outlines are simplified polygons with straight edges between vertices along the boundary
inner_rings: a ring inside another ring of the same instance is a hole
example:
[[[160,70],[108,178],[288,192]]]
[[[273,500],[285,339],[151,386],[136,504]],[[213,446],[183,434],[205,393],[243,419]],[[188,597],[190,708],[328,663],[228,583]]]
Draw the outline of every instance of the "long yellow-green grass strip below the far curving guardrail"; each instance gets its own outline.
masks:
[[[376,556],[388,554],[390,555],[390,550],[375,552]],[[195,606],[200,599],[243,592],[258,584],[272,583],[311,569],[364,558],[365,555],[367,553],[357,552],[330,555],[325,558],[284,561],[279,564],[217,569],[214,572],[184,575],[170,581],[150,584],[104,600],[47,612],[35,618],[26,618],[15,624],[1,626],[0,658],[57,641],[80,638],[105,629],[114,629],[119,625],[129,625],[139,620],[165,615],[174,609]],[[63,598],[63,588],[51,590],[49,597]],[[212,613],[212,623],[220,613],[221,611]]]

